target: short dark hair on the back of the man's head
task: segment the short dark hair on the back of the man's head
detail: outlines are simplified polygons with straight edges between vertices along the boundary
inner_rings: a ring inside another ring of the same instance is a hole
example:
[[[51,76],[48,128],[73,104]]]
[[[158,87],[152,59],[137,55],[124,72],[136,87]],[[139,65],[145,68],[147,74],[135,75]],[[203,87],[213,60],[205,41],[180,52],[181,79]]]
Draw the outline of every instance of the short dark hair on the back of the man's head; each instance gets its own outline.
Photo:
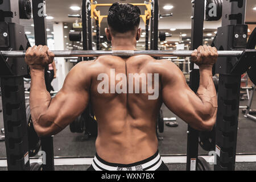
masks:
[[[113,3],[109,9],[108,24],[114,32],[127,32],[139,27],[141,10],[131,4]]]

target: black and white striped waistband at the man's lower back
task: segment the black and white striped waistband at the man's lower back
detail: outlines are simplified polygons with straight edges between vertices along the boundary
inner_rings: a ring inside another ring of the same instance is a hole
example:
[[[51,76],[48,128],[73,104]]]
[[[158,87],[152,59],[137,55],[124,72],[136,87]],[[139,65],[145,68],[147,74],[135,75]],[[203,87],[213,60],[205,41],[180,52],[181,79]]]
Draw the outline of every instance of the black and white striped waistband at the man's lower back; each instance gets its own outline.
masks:
[[[94,156],[92,166],[96,171],[155,171],[162,164],[159,151],[150,158],[133,164],[115,164],[101,159],[97,154]]]

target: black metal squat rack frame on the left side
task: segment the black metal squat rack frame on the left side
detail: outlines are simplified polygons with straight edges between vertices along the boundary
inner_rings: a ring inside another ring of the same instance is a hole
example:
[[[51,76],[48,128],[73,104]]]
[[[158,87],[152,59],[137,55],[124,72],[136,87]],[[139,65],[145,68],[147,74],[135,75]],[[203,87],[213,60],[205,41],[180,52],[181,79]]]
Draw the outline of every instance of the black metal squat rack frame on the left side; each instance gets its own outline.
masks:
[[[46,44],[44,14],[39,16],[39,9],[45,7],[44,1],[33,0],[36,44]],[[38,6],[40,5],[40,6]],[[42,5],[42,6],[41,6]],[[1,51],[26,51],[27,38],[19,19],[31,18],[29,0],[0,1],[0,49]],[[44,39],[41,41],[40,38]],[[32,126],[30,109],[25,105],[24,80],[28,67],[23,57],[5,58],[0,53],[0,76],[5,129],[7,168],[9,170],[53,170],[52,138],[40,139]],[[47,79],[46,79],[47,80]],[[46,83],[47,84],[47,83]],[[38,154],[40,147],[46,152],[46,165],[30,164],[30,157]]]

